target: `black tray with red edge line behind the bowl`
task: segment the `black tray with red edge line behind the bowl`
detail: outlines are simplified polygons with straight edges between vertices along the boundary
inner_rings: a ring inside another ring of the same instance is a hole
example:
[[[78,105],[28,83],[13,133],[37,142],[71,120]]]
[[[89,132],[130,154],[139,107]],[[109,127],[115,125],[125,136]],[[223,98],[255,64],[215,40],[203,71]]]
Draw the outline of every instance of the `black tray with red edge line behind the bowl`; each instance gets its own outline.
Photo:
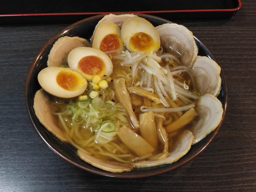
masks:
[[[95,14],[148,13],[165,19],[230,18],[241,8],[240,0],[112,0],[31,2],[0,1],[0,22],[74,22]],[[167,3],[168,2],[168,3]],[[136,6],[134,6],[136,5]],[[117,11],[118,10],[118,11]],[[145,11],[147,10],[147,11]]]

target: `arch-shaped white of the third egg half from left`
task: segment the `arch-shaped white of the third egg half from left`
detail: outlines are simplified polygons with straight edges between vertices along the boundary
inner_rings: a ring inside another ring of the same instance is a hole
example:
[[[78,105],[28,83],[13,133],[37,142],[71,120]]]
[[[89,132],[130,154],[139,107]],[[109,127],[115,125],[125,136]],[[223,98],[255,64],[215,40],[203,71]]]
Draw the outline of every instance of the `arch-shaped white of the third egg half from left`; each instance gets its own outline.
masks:
[[[100,44],[103,38],[109,34],[116,34],[121,40],[121,29],[113,22],[102,22],[99,24],[95,31],[95,35],[92,41],[92,48],[100,50]],[[124,49],[123,41],[120,42],[120,51]]]

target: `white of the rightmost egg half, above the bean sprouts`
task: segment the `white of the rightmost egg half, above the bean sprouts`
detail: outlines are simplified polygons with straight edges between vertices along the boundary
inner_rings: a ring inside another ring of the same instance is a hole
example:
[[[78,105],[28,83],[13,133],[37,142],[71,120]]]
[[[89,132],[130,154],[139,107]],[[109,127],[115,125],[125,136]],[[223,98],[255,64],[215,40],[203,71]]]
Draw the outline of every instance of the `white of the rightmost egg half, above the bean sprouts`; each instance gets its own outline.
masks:
[[[129,42],[131,37],[139,32],[146,33],[152,37],[155,45],[154,49],[150,51],[157,52],[160,48],[160,37],[156,31],[156,28],[149,21],[141,17],[131,17],[125,20],[123,23],[123,26],[121,28],[121,37],[126,48],[129,51],[133,52],[133,50],[131,50],[129,46]]]

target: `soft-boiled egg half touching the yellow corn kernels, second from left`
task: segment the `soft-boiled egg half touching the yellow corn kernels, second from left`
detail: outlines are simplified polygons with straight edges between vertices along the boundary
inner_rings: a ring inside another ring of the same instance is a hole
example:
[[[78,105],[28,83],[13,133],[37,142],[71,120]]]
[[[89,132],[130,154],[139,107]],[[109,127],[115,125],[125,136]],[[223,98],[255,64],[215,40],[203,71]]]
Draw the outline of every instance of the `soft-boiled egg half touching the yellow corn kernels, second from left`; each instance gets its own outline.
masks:
[[[68,54],[68,66],[79,71],[87,80],[95,75],[108,78],[113,71],[113,64],[108,55],[91,47],[77,47]]]

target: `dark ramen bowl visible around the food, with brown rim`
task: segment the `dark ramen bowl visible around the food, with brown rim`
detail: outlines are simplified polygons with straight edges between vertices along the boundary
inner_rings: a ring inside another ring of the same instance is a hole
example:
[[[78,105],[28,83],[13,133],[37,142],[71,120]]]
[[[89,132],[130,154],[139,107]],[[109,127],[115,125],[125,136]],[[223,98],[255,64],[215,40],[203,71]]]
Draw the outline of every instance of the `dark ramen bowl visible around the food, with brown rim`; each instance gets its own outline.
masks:
[[[169,20],[165,20],[156,16],[151,16],[146,14],[137,14],[137,15],[145,18],[146,20],[151,22],[154,26],[162,25],[164,23],[171,23],[171,21]],[[94,17],[90,17],[90,18],[78,21],[73,25],[68,26],[67,28],[60,31],[60,33],[53,36],[41,48],[41,50],[36,55],[28,71],[26,88],[25,88],[25,99],[26,99],[28,114],[32,121],[32,124],[36,129],[36,132],[39,134],[39,136],[45,142],[45,144],[49,148],[51,148],[52,151],[54,151],[62,159],[85,171],[89,171],[99,175],[120,177],[120,178],[139,178],[139,177],[147,177],[147,176],[161,174],[164,172],[171,171],[177,167],[180,167],[181,165],[187,163],[188,161],[193,159],[195,156],[197,156],[199,153],[201,153],[205,149],[205,147],[212,141],[212,139],[215,137],[215,135],[220,129],[220,126],[223,122],[226,109],[227,109],[227,86],[226,86],[226,80],[222,71],[220,74],[222,79],[221,91],[220,91],[220,95],[218,96],[218,99],[221,101],[223,105],[224,113],[223,113],[223,118],[220,122],[220,125],[213,132],[208,134],[203,140],[193,145],[185,156],[183,156],[177,162],[172,164],[160,165],[160,166],[149,167],[149,168],[136,168],[131,172],[123,172],[123,173],[107,172],[97,167],[94,167],[91,164],[87,164],[86,162],[81,160],[76,155],[76,149],[73,146],[70,146],[69,144],[62,142],[61,140],[56,138],[51,132],[47,131],[47,129],[45,129],[45,127],[37,119],[34,108],[33,108],[35,93],[37,90],[41,88],[37,81],[37,75],[39,71],[41,71],[43,68],[46,67],[48,54],[52,48],[52,45],[57,39],[59,39],[62,36],[79,36],[89,40],[90,37],[92,36],[92,32],[96,24],[103,16],[104,15],[97,15]],[[209,58],[216,61],[216,59],[214,58],[212,53],[207,49],[207,47],[202,42],[200,42],[195,36],[194,36],[194,39],[198,46],[198,50],[199,50],[198,55],[208,56]]]

